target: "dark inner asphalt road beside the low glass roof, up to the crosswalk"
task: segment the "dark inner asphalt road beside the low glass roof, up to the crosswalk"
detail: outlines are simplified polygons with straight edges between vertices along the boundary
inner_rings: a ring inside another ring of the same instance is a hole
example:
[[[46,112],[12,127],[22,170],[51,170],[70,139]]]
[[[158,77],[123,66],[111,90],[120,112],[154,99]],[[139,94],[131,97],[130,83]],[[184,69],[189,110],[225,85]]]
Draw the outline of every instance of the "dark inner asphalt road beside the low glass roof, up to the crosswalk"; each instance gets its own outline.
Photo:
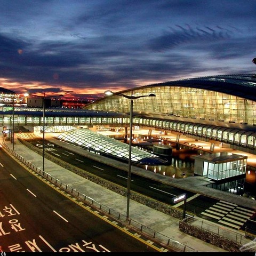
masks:
[[[34,141],[33,139],[30,139],[27,141],[32,143],[34,146],[42,148],[42,140],[37,139]],[[53,147],[49,146],[49,144],[51,145],[51,143],[47,143],[45,140],[45,150],[47,153],[58,157],[62,161],[74,165],[79,169],[85,170],[86,172],[90,172],[94,175],[97,175],[98,177],[116,183],[120,186],[127,187],[127,172],[113,166],[94,161],[93,159],[86,158],[85,156],[79,154],[70,154],[70,151],[66,150],[65,148],[62,148],[58,145],[54,145]],[[183,193],[187,194],[187,198],[195,196],[195,193],[190,191],[165,185],[162,182],[150,180],[133,173],[131,178],[131,190],[172,206],[174,205],[172,200],[173,197]],[[216,199],[205,196],[200,197],[202,198],[195,197],[193,202],[188,203],[188,211],[196,211],[196,213],[199,213],[203,211],[207,205],[214,204],[216,201],[218,201]],[[204,198],[207,198],[207,205],[205,205],[205,203],[202,204],[202,201],[205,201]],[[181,209],[182,207],[183,206],[180,206]]]

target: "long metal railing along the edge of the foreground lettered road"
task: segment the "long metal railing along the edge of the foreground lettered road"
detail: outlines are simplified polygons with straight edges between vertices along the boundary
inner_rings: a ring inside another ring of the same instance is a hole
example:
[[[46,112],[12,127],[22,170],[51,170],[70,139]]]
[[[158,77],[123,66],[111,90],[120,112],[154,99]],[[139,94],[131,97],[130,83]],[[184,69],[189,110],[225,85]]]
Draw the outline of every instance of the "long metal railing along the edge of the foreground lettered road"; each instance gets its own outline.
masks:
[[[158,231],[155,231],[154,229],[151,229],[145,225],[142,225],[141,223],[126,218],[126,216],[122,213],[119,213],[118,211],[111,209],[107,205],[104,205],[98,201],[95,201],[93,198],[84,195],[83,193],[80,193],[75,188],[67,185],[66,183],[62,182],[61,180],[54,178],[51,174],[47,172],[43,172],[41,169],[39,169],[37,166],[35,166],[33,163],[27,161],[23,156],[19,155],[17,152],[12,150],[9,146],[6,145],[6,143],[3,141],[2,145],[19,161],[21,161],[23,164],[28,166],[31,170],[35,171],[36,173],[42,175],[45,179],[50,181],[51,183],[54,183],[55,186],[61,188],[62,190],[66,191],[68,194],[73,195],[75,198],[79,199],[79,201],[83,202],[86,205],[90,205],[93,209],[97,209],[99,212],[104,213],[108,215],[108,217],[114,219],[117,221],[117,223],[121,223],[125,227],[135,231],[138,234],[141,234],[142,236],[145,236],[148,239],[151,239],[155,243],[163,246],[166,249],[169,249],[171,251],[175,252],[198,252],[197,250],[184,245],[178,241],[173,240],[170,237],[167,237]]]

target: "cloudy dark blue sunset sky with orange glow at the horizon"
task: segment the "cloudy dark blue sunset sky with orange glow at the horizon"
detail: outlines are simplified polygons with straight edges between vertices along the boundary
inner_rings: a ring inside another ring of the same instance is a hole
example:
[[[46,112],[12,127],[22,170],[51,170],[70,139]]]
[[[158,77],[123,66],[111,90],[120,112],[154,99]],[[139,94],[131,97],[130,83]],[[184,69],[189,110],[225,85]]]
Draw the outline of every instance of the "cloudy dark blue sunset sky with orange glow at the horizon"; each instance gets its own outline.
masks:
[[[255,0],[0,0],[0,87],[83,99],[256,73]]]

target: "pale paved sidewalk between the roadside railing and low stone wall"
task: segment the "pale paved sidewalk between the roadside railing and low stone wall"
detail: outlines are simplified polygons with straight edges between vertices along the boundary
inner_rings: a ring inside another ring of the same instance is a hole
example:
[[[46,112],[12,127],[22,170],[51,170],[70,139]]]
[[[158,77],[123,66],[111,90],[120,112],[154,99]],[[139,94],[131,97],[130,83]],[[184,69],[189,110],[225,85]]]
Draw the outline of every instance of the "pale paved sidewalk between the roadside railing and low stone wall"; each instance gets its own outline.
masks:
[[[10,141],[5,141],[5,143],[12,148]],[[42,156],[36,154],[33,150],[29,150],[26,146],[22,145],[19,140],[17,140],[17,143],[14,145],[14,151],[27,159],[27,161],[42,169]],[[80,191],[84,195],[93,198],[95,201],[107,205],[121,214],[126,214],[126,197],[103,188],[71,171],[63,169],[46,158],[45,172],[68,184],[77,191]],[[97,193],[95,193],[95,191],[97,191]],[[195,251],[226,252],[217,246],[203,242],[200,239],[179,231],[179,219],[132,200],[130,202],[130,218]]]

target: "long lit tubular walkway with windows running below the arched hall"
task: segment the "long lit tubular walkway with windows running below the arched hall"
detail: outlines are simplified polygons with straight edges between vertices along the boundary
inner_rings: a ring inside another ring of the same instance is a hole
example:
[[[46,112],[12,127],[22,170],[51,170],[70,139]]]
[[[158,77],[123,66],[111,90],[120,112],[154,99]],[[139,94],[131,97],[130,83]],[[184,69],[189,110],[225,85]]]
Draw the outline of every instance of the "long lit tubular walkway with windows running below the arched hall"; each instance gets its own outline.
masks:
[[[0,111],[1,112],[1,111]],[[79,111],[80,115],[77,115],[76,111],[63,111],[59,113],[59,110],[46,109],[46,115],[51,113],[54,117],[45,118],[45,126],[111,126],[111,127],[124,127],[130,123],[130,117],[127,114],[121,113],[107,113],[105,111]],[[61,115],[61,116],[60,116]],[[75,116],[77,115],[77,116]],[[43,111],[35,111],[29,109],[29,111],[22,109],[15,109],[14,125],[15,126],[42,126],[43,125]],[[72,116],[72,117],[71,117]],[[156,116],[156,117],[155,117]],[[206,138],[210,140],[229,143],[230,145],[236,145],[242,147],[247,152],[256,150],[256,126],[254,130],[252,126],[244,126],[241,129],[240,124],[237,125],[239,129],[231,129],[227,124],[222,122],[223,126],[206,125],[204,123],[185,122],[185,118],[180,118],[180,121],[174,120],[174,116],[161,115],[134,115],[133,124],[139,126],[153,127],[153,129],[163,129],[165,131],[174,131],[179,133],[185,133],[196,137]],[[193,121],[194,119],[190,119]],[[198,120],[197,120],[198,121]],[[204,121],[206,122],[206,121]],[[0,113],[1,125],[10,127],[12,126],[12,114]],[[207,121],[211,123],[211,121]],[[225,125],[225,126],[224,126]],[[54,130],[54,128],[51,128]],[[57,128],[58,129],[58,128]],[[249,130],[247,130],[249,129]],[[56,130],[56,129],[55,129]],[[241,150],[242,150],[241,148]],[[243,151],[243,150],[242,150]],[[252,153],[254,154],[254,153]]]

